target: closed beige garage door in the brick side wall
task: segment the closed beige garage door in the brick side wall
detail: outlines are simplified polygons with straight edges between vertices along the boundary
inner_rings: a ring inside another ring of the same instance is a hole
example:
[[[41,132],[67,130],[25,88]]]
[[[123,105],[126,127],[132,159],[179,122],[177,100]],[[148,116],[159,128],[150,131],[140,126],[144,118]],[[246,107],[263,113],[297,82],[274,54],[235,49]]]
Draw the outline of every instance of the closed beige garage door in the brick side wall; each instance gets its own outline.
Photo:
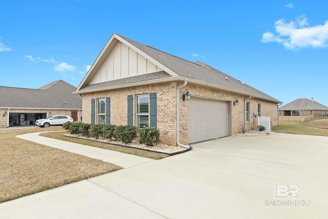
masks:
[[[227,102],[191,98],[188,102],[188,142],[200,142],[227,135]]]

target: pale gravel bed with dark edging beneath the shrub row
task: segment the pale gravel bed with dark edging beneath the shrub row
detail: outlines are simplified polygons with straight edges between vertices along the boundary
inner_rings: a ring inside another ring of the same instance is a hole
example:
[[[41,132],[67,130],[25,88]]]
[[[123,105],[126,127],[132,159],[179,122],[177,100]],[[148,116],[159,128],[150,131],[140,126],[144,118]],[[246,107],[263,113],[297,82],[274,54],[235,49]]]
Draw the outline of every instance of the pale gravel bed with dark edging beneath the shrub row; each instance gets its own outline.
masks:
[[[133,141],[130,144],[124,144],[122,142],[110,141],[110,140],[107,140],[107,139],[104,139],[101,137],[96,139],[93,137],[85,137],[85,136],[81,136],[78,134],[64,134],[64,136],[81,138],[81,139],[86,139],[86,140],[90,140],[90,141],[101,142],[101,143],[106,143],[106,144],[111,144],[111,145],[117,145],[120,147],[129,147],[129,148],[136,148],[136,149],[141,149],[141,150],[156,152],[156,153],[165,153],[170,156],[179,154],[179,153],[184,153],[184,152],[190,151],[192,149],[192,148],[187,149],[187,148],[182,148],[179,146],[171,146],[171,145],[164,145],[164,144],[147,146],[147,145],[139,144],[137,141]]]

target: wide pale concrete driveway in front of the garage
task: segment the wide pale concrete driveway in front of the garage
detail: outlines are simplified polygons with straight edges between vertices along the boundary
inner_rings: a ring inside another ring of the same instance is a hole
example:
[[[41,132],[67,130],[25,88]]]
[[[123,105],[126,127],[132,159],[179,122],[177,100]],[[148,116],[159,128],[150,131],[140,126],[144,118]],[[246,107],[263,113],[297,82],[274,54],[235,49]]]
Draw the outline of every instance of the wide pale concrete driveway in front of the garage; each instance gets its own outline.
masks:
[[[327,158],[328,137],[230,136],[2,203],[0,218],[325,218]]]

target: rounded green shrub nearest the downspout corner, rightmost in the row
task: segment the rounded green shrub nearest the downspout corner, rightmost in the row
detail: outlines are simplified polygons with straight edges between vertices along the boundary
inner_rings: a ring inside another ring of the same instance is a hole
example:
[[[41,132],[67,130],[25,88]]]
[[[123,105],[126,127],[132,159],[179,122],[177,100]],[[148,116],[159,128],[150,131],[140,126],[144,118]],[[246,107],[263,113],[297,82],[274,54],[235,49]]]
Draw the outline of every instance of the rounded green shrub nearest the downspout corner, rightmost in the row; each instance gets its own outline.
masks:
[[[155,127],[138,128],[137,133],[140,144],[153,146],[159,143],[159,130]]]

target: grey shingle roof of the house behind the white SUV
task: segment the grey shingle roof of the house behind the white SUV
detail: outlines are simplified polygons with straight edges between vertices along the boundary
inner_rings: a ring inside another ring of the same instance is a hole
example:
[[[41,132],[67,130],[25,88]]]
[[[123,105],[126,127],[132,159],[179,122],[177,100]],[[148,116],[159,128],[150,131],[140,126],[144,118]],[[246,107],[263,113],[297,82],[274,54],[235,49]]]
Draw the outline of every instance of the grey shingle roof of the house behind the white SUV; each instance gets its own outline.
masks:
[[[72,93],[75,90],[76,87],[62,80],[39,89],[0,86],[0,107],[82,109],[82,98]]]

